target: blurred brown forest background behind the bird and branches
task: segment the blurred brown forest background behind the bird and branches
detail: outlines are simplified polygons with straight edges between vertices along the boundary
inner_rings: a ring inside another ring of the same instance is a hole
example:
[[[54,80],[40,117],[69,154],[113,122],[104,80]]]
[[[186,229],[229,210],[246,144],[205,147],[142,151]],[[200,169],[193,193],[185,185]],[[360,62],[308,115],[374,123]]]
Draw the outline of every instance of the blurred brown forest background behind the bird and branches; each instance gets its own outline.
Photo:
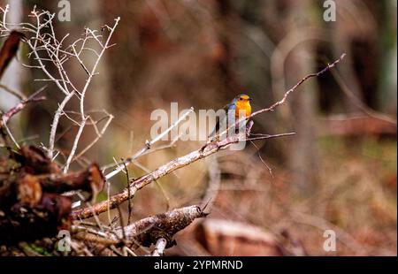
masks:
[[[172,102],[180,110],[217,110],[240,93],[250,95],[258,110],[347,53],[287,104],[255,118],[255,133],[295,136],[218,153],[134,197],[137,219],[211,197],[210,216],[180,232],[167,254],[279,255],[283,247],[295,255],[396,255],[397,3],[334,2],[335,22],[325,22],[324,1],[315,0],[70,0],[71,21],[56,21],[59,37],[78,37],[83,27],[121,18],[112,37],[117,45],[106,51],[87,99],[89,108],[115,117],[86,154],[99,164],[141,148],[150,138],[153,110],[169,112]],[[34,5],[59,11],[53,0],[0,0],[7,3],[14,22],[26,21]],[[27,62],[26,53],[22,47],[19,59]],[[73,78],[83,82],[85,76],[76,64]],[[38,78],[42,72],[14,60],[2,84],[31,94],[42,87],[34,82]],[[59,101],[52,89],[45,91],[50,100],[13,118],[19,141],[48,143]],[[0,90],[1,110],[15,103]],[[77,129],[61,120],[58,146],[70,148]],[[94,136],[88,127],[81,146]],[[131,174],[142,175],[201,144],[177,141],[140,158]],[[120,175],[111,192],[125,184]],[[327,229],[336,232],[335,252],[323,248]]]

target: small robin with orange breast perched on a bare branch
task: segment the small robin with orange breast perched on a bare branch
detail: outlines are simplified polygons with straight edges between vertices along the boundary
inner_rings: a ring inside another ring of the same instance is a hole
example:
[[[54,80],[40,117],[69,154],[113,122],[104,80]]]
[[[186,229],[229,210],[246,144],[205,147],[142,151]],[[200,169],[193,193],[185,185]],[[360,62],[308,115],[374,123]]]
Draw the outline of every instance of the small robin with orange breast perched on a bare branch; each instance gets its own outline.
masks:
[[[213,139],[220,128],[226,129],[229,126],[233,126],[232,122],[237,121],[239,118],[248,118],[251,115],[250,101],[252,101],[252,99],[249,95],[241,94],[235,96],[231,103],[226,104],[223,108],[224,114],[216,117],[216,126],[209,134],[209,139]],[[242,117],[240,117],[240,115],[242,115]],[[229,118],[227,119],[227,117]],[[227,121],[228,123],[226,124]],[[241,129],[242,126],[246,126],[247,122],[248,120],[242,121],[236,130]]]

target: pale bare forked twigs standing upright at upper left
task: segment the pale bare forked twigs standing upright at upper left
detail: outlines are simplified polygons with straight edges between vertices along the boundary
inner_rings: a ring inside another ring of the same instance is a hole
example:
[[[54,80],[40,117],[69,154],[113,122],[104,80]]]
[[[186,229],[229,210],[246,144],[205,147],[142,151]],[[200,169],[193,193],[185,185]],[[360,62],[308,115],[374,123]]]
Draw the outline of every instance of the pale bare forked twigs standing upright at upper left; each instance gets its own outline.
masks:
[[[100,63],[100,60],[103,57],[103,54],[106,49],[109,49],[113,46],[110,44],[112,34],[114,33],[116,27],[119,24],[119,18],[115,19],[115,23],[112,27],[108,27],[109,34],[107,35],[104,42],[102,42],[102,35],[97,34],[96,30],[91,30],[89,28],[85,29],[85,33],[83,37],[75,40],[69,45],[65,45],[66,38],[69,37],[69,34],[65,34],[61,39],[57,39],[55,29],[53,26],[53,20],[55,19],[55,13],[50,13],[50,11],[39,11],[34,6],[33,11],[31,11],[29,17],[34,19],[34,24],[31,23],[19,23],[19,24],[11,24],[7,22],[7,14],[9,12],[9,5],[7,4],[5,8],[1,8],[2,11],[2,22],[0,23],[0,32],[3,33],[11,33],[12,30],[19,30],[24,34],[27,34],[22,40],[27,43],[30,52],[27,54],[27,57],[34,60],[36,64],[34,65],[24,65],[28,68],[40,69],[45,74],[45,79],[35,79],[36,81],[50,81],[53,82],[59,91],[65,95],[64,99],[61,103],[59,103],[57,111],[54,114],[51,128],[50,128],[50,138],[48,148],[45,148],[47,151],[47,156],[50,159],[54,160],[54,149],[56,143],[56,135],[57,135],[57,126],[59,124],[59,120],[62,115],[65,114],[65,106],[67,103],[71,101],[71,99],[76,96],[79,99],[80,103],[80,122],[79,122],[79,130],[76,133],[73,140],[73,148],[71,149],[67,162],[65,163],[64,172],[69,169],[70,164],[73,163],[74,160],[78,160],[80,156],[82,156],[89,148],[92,148],[96,141],[102,138],[104,131],[111,123],[111,117],[108,123],[103,127],[103,130],[99,132],[96,129],[96,139],[92,141],[87,148],[82,149],[78,156],[74,156],[76,153],[76,148],[79,144],[81,133],[83,132],[83,127],[87,125],[88,115],[84,110],[84,101],[85,96],[88,92],[88,88],[90,84],[98,73],[97,66]],[[93,46],[98,47],[99,49],[90,49],[87,46],[89,41],[96,41],[96,44]],[[94,65],[88,69],[88,65],[85,63],[86,60],[81,58],[81,53],[88,51],[95,54]],[[74,80],[69,76],[70,72],[65,69],[65,62],[70,59],[76,59],[84,71],[88,74],[88,78],[86,79],[85,85],[81,90],[76,88],[74,84]],[[55,67],[55,70],[51,70],[51,67]],[[19,96],[18,93],[15,93],[9,89],[6,91],[10,92],[12,95]]]

